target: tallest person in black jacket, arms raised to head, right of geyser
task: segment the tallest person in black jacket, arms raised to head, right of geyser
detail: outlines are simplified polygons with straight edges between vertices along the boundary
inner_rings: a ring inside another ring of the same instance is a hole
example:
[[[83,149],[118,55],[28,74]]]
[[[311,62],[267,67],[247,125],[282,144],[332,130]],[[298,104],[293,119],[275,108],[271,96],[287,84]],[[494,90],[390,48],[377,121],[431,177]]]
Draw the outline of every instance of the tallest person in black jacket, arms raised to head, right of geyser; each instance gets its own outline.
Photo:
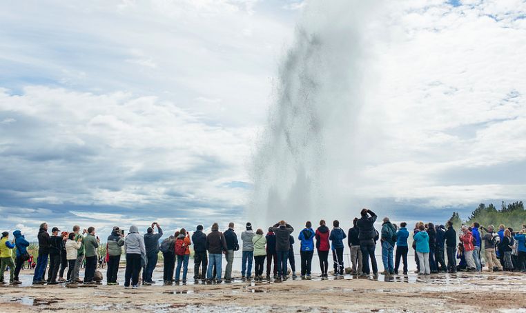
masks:
[[[370,215],[370,216],[368,216]],[[363,209],[360,212],[360,219],[356,222],[358,226],[358,239],[360,239],[360,250],[362,251],[363,273],[358,278],[367,278],[369,275],[369,257],[371,258],[371,266],[373,267],[373,275],[378,276],[378,265],[376,265],[376,256],[374,250],[376,248],[375,237],[377,231],[374,229],[374,222],[376,221],[376,214],[368,209]]]

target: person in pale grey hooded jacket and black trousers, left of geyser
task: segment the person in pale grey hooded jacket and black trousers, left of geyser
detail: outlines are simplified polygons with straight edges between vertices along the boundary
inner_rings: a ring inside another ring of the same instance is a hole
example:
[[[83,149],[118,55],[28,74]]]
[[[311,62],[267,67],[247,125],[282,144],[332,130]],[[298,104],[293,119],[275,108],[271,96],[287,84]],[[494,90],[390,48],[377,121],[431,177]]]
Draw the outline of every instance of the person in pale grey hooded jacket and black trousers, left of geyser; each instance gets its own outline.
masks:
[[[146,261],[146,246],[144,236],[139,234],[137,226],[130,226],[130,232],[124,239],[124,253],[126,253],[126,273],[124,287],[129,288],[130,282],[134,289],[139,287],[139,272],[142,263]]]

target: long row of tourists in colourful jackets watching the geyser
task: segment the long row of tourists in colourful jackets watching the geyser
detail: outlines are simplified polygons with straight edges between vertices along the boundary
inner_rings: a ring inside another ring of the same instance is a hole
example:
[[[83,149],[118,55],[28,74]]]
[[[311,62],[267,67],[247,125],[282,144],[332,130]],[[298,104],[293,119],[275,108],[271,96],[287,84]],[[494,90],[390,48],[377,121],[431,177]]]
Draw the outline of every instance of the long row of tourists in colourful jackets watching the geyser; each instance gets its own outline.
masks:
[[[314,252],[320,261],[321,279],[329,276],[329,252],[332,254],[333,275],[343,278],[344,239],[350,252],[350,274],[367,278],[372,273],[378,276],[378,265],[375,256],[376,243],[382,247],[384,271],[380,274],[399,274],[402,263],[402,274],[408,274],[408,239],[411,236],[407,223],[391,223],[388,217],[382,220],[380,232],[374,227],[377,216],[371,210],[363,209],[360,218],[353,220],[347,234],[340,228],[339,221],[333,221],[329,229],[324,220],[313,229],[307,221],[298,236],[292,236],[294,228],[280,221],[269,227],[266,234],[262,229],[253,230],[251,223],[246,223],[241,233],[241,242],[235,233],[234,223],[220,232],[219,225],[214,223],[211,232],[204,233],[202,225],[190,235],[185,228],[160,241],[163,231],[159,223],[153,223],[146,234],[139,234],[137,226],[132,225],[128,234],[114,227],[106,240],[106,256],[99,255],[101,241],[95,234],[95,228],[89,227],[80,233],[79,225],[72,232],[61,232],[59,228],[51,229],[42,223],[39,228],[38,257],[33,276],[33,284],[56,285],[58,283],[94,284],[97,261],[99,267],[106,264],[106,281],[108,285],[118,285],[117,274],[121,256],[126,258],[124,286],[137,288],[139,274],[142,272],[142,284],[153,285],[153,272],[157,265],[159,252],[163,256],[163,280],[165,284],[186,283],[188,262],[193,250],[193,279],[207,283],[222,283],[233,280],[232,267],[234,255],[242,250],[242,279],[275,279],[284,281],[289,275],[296,278],[293,244],[298,238],[300,244],[300,276],[311,279],[312,259]],[[9,232],[3,232],[0,239],[0,283],[5,284],[4,272],[9,268],[9,283],[20,284],[19,273],[23,264],[32,260],[28,251],[30,243],[20,230],[15,230],[10,240]],[[483,270],[482,249],[485,252],[485,264],[489,272],[522,271],[526,272],[526,227],[514,232],[512,228],[499,225],[483,227],[478,223],[462,225],[458,232],[453,223],[434,225],[418,222],[412,231],[412,246],[415,251],[416,273],[428,275],[438,272],[455,273],[458,270],[480,272]],[[458,244],[457,244],[458,243]],[[191,250],[191,247],[193,248]],[[16,248],[16,259],[12,259],[12,249]],[[394,256],[393,256],[394,255]],[[223,257],[226,267],[223,274]],[[445,261],[447,257],[447,262]],[[104,260],[104,261],[102,261]],[[266,261],[266,267],[264,266]],[[16,264],[16,265],[15,265]],[[84,279],[79,272],[84,266]],[[48,268],[49,265],[49,268]],[[254,265],[254,272],[253,272]],[[290,265],[291,271],[289,274]],[[68,271],[64,276],[66,267]],[[47,279],[46,268],[48,268]],[[182,275],[181,275],[182,272]],[[254,274],[254,276],[252,276]]]

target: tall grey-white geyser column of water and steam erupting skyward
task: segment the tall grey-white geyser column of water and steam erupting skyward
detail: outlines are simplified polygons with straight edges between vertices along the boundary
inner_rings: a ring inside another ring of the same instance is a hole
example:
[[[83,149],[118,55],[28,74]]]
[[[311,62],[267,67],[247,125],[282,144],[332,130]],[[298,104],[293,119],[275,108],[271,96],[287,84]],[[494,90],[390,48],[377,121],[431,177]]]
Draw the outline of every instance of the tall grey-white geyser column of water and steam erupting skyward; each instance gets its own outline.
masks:
[[[331,219],[349,208],[371,6],[306,3],[253,159],[251,219],[265,219],[266,225],[285,219],[299,228],[306,219]]]

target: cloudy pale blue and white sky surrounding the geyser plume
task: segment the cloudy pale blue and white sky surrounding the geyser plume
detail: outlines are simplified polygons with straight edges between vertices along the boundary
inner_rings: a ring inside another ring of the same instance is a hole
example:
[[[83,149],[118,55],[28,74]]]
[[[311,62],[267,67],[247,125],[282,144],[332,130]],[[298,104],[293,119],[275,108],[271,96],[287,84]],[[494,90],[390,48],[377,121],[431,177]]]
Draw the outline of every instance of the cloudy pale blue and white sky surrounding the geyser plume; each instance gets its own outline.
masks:
[[[0,229],[244,221],[306,2],[2,3]],[[376,2],[362,22],[359,166],[337,182],[355,210],[443,222],[524,200],[526,1]]]

